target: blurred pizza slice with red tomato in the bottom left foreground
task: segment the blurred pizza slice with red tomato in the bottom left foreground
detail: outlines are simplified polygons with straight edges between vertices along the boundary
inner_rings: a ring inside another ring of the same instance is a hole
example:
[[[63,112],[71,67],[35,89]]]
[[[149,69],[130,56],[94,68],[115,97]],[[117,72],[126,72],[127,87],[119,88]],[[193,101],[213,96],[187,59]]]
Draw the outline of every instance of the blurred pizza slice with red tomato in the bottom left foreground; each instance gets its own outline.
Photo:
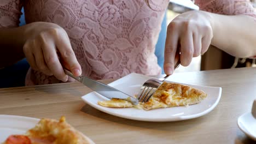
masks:
[[[65,117],[59,121],[43,118],[24,135],[10,135],[4,144],[94,143],[69,125]]]

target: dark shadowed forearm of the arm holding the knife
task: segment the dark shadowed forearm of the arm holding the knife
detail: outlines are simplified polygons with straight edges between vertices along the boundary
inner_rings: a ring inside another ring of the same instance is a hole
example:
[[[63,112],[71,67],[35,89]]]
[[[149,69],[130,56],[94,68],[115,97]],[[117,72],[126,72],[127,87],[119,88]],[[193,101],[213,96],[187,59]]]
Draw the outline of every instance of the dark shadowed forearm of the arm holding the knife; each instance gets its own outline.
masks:
[[[0,68],[24,58],[24,27],[0,28]]]

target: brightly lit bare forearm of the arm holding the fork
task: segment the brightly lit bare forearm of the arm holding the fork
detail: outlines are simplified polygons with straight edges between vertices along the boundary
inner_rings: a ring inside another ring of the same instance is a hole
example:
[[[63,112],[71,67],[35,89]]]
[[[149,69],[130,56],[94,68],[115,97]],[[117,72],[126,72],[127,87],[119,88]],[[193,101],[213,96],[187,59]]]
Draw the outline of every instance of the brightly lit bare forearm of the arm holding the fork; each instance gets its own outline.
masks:
[[[253,17],[209,14],[213,28],[212,45],[235,57],[256,55],[256,20]]]

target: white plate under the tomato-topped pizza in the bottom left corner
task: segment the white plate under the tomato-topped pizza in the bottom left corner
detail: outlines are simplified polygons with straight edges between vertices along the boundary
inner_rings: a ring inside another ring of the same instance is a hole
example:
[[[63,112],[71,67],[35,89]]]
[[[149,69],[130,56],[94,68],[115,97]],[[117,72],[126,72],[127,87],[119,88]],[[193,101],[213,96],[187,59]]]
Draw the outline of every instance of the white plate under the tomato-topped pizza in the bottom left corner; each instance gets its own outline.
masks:
[[[0,115],[0,143],[4,142],[9,135],[25,134],[38,122],[37,118]]]

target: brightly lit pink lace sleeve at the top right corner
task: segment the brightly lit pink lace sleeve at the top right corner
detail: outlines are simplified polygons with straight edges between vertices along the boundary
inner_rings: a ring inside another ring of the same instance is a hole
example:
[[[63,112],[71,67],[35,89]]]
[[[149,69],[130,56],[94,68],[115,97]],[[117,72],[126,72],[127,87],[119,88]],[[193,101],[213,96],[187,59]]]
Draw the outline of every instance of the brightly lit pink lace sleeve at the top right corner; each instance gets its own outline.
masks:
[[[195,0],[201,10],[223,15],[249,15],[256,20],[256,11],[248,0]]]

